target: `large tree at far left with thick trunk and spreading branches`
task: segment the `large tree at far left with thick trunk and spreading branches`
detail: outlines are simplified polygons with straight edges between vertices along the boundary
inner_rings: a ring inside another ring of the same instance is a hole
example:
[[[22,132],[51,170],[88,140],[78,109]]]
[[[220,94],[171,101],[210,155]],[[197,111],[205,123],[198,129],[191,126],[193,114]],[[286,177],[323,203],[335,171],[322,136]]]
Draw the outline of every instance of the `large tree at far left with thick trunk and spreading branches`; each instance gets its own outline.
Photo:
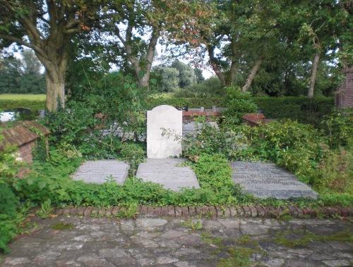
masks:
[[[0,45],[35,51],[45,68],[47,109],[65,105],[65,73],[73,35],[90,30],[98,1],[0,0]]]

